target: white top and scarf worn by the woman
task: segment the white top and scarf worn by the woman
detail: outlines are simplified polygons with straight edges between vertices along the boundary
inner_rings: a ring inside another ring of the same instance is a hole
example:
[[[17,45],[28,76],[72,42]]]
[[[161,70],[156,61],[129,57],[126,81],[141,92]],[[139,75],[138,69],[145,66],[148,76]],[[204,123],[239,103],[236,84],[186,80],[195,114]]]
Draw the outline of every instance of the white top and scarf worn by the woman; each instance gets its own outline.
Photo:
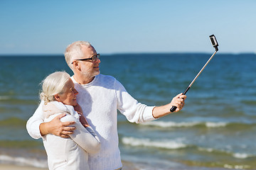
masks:
[[[62,122],[75,121],[75,131],[70,138],[48,134],[43,137],[43,145],[48,156],[48,168],[55,170],[77,169],[90,170],[88,153],[100,150],[100,141],[91,127],[83,127],[79,115],[73,106],[64,105],[58,101],[43,106],[44,121],[49,122],[55,116],[66,113]]]

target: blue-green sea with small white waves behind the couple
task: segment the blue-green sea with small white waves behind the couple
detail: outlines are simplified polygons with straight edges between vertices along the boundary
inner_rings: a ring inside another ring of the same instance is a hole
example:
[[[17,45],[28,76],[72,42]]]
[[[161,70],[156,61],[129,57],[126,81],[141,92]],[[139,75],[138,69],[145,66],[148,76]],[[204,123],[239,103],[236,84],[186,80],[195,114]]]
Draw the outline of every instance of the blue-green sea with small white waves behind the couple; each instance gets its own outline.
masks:
[[[185,91],[210,53],[101,55],[101,74],[119,80],[148,106]],[[26,121],[50,73],[73,75],[63,55],[1,55],[0,164],[47,167],[41,139]],[[137,169],[256,169],[256,55],[216,53],[187,92],[182,111],[149,123],[118,114],[122,160]],[[100,107],[100,106],[99,106]]]

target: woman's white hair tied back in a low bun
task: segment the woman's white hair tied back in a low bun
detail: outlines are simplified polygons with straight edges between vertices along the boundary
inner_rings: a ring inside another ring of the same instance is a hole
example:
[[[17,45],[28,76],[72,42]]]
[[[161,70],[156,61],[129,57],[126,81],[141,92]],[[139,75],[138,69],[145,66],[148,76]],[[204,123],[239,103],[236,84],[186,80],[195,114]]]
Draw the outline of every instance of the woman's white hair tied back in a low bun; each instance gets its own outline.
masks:
[[[65,84],[69,79],[70,75],[66,72],[54,72],[48,75],[48,77],[41,82],[41,101],[44,101],[45,104],[50,101],[55,101],[54,95],[64,93]]]

